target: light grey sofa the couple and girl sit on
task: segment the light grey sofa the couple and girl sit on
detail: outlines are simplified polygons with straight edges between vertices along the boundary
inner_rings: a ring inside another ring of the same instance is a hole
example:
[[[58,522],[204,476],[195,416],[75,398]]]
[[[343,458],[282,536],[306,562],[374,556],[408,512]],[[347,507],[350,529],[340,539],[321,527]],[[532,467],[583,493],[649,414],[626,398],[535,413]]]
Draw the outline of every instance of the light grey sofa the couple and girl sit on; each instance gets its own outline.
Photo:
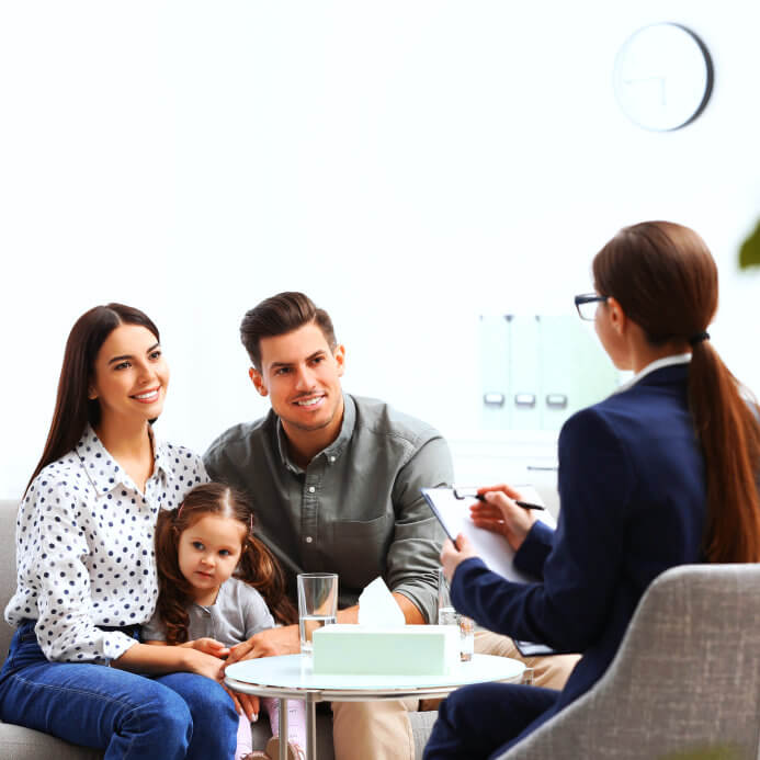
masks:
[[[15,590],[15,515],[18,502],[0,500],[0,612]],[[13,629],[0,620],[0,658],[5,659]],[[422,757],[435,712],[410,713],[415,749]],[[262,717],[253,724],[253,746],[264,748],[271,736],[269,721]],[[329,713],[317,715],[317,756],[319,760],[333,760],[332,718]],[[2,760],[101,760],[103,752],[77,747],[47,734],[0,722],[0,758]]]

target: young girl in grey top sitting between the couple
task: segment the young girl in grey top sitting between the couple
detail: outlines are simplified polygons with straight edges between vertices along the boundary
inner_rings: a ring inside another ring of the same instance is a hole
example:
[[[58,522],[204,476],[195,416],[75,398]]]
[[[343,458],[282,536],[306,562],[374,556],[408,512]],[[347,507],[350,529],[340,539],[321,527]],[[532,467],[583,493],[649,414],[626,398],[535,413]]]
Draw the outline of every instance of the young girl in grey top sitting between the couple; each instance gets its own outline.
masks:
[[[156,525],[159,597],[143,626],[148,644],[191,647],[225,657],[229,647],[274,626],[293,623],[283,574],[270,551],[253,535],[253,514],[230,488],[196,486],[179,507],[159,514]],[[236,760],[279,757],[277,700],[264,699],[273,737],[266,753],[251,751],[251,726],[240,716]],[[288,702],[288,758],[306,746],[305,705]]]

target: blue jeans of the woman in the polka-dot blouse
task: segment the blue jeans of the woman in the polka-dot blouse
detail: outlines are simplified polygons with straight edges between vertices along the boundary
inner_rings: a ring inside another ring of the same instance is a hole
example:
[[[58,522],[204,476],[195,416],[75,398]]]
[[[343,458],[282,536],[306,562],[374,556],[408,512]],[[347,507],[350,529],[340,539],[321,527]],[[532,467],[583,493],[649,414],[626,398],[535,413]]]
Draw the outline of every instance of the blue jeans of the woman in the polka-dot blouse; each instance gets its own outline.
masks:
[[[33,621],[19,626],[0,671],[0,719],[103,749],[106,760],[231,760],[238,730],[232,700],[215,681],[50,662]]]

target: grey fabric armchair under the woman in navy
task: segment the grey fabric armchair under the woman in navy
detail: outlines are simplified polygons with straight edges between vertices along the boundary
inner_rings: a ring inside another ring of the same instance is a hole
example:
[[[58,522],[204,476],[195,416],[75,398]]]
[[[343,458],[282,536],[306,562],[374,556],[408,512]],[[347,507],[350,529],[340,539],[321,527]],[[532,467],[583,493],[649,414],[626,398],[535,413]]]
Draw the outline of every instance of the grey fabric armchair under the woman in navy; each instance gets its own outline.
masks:
[[[760,565],[685,565],[594,687],[499,760],[757,760]]]

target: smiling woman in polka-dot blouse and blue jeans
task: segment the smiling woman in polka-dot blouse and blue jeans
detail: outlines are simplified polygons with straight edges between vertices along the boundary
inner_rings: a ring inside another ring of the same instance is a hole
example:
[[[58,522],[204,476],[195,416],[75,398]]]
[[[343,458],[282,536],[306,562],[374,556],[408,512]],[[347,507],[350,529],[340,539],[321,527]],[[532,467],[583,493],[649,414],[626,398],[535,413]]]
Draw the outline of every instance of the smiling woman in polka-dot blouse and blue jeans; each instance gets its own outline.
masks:
[[[168,383],[143,311],[97,306],[71,329],[19,510],[0,719],[106,758],[231,758],[238,718],[224,660],[137,640],[158,593],[156,519],[208,479],[200,457],[152,430]]]

